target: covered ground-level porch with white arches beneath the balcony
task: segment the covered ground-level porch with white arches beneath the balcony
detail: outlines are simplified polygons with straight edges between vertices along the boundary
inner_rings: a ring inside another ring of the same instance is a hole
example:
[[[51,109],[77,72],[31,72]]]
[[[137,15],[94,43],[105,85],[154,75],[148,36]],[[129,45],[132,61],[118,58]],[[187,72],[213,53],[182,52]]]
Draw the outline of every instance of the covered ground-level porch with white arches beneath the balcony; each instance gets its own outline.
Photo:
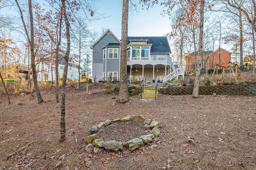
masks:
[[[172,72],[169,64],[131,64],[127,65],[127,79],[129,82],[142,81],[155,82],[158,78],[162,82],[163,78]]]

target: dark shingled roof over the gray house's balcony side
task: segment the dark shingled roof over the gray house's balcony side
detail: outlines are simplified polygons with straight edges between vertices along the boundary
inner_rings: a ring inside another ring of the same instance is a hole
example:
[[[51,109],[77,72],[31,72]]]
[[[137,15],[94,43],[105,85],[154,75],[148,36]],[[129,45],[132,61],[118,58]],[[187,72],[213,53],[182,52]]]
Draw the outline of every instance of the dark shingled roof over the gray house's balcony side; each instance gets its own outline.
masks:
[[[132,39],[148,39],[148,44],[152,44],[151,53],[171,53],[171,49],[166,37],[128,37],[127,44],[130,44]]]

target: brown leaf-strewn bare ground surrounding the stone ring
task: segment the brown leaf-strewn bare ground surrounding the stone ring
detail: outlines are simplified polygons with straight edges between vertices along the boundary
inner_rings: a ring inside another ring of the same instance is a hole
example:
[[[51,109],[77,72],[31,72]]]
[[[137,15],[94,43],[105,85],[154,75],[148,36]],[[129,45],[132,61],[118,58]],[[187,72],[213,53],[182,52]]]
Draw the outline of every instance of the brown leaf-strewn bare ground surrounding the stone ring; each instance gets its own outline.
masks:
[[[0,96],[1,170],[256,169],[254,96],[192,99],[160,94],[150,101],[138,95],[128,104],[114,105],[117,95],[105,94],[102,86],[90,86],[88,94],[86,88],[69,87],[66,141],[60,143],[60,104],[54,100],[54,90],[41,94],[46,101],[41,104],[29,94],[10,96],[11,105]],[[90,127],[129,115],[158,121],[160,136],[132,152],[86,152],[83,137]]]

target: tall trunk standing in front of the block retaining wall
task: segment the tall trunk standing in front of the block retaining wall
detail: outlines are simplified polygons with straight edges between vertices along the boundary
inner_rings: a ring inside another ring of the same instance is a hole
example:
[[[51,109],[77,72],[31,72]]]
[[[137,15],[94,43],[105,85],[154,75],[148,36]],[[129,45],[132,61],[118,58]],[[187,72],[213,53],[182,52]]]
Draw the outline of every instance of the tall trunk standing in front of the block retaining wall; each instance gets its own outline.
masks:
[[[200,70],[203,57],[203,36],[204,36],[204,0],[200,2],[200,29],[199,29],[199,47],[198,47],[198,58],[196,63],[196,77],[194,82],[194,89],[192,93],[193,98],[198,98],[199,93],[199,80]]]

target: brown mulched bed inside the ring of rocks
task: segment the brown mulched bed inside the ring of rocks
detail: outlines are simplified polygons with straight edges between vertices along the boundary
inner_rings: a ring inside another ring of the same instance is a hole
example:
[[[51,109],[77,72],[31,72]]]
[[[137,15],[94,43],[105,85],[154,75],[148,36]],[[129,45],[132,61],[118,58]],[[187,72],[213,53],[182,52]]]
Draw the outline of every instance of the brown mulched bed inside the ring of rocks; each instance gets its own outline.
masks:
[[[151,129],[147,124],[138,121],[117,122],[108,125],[106,128],[98,131],[98,139],[104,141],[114,140],[117,142],[126,142],[132,139],[148,135]]]

